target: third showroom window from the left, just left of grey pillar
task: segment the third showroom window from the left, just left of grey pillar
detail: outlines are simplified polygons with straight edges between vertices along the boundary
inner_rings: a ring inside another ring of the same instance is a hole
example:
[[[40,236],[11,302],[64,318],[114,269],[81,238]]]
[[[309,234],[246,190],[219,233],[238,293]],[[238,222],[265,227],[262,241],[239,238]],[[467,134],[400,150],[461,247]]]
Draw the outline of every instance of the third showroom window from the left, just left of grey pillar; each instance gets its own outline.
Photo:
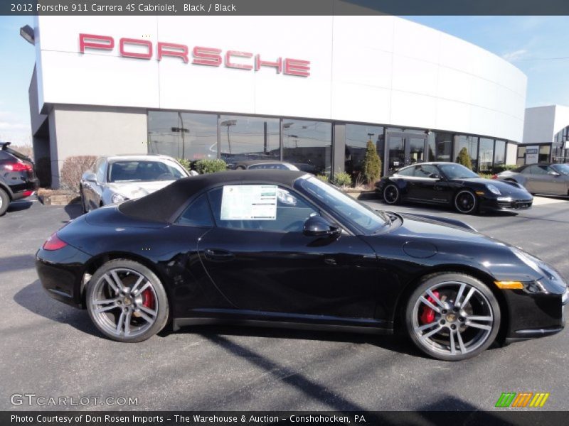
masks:
[[[285,119],[282,160],[316,175],[330,175],[332,125],[321,121]]]

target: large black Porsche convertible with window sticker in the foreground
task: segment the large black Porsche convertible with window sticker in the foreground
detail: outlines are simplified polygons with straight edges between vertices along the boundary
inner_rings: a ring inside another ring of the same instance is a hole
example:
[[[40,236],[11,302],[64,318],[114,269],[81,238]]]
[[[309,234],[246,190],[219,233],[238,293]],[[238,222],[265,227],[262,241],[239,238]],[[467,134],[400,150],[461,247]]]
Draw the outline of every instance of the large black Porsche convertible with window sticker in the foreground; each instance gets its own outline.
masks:
[[[370,209],[312,175],[178,180],[84,214],[36,254],[49,295],[120,342],[171,322],[405,330],[458,360],[563,329],[551,266],[452,219]]]

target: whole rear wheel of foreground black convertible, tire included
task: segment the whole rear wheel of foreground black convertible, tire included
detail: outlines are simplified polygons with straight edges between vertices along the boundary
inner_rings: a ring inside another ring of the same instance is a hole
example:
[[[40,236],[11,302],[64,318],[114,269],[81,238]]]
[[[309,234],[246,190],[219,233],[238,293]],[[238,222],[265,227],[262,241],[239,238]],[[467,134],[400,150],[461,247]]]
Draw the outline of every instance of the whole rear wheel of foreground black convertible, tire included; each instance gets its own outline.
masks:
[[[142,342],[168,322],[168,297],[161,281],[146,266],[127,259],[97,269],[85,302],[93,324],[117,342]]]

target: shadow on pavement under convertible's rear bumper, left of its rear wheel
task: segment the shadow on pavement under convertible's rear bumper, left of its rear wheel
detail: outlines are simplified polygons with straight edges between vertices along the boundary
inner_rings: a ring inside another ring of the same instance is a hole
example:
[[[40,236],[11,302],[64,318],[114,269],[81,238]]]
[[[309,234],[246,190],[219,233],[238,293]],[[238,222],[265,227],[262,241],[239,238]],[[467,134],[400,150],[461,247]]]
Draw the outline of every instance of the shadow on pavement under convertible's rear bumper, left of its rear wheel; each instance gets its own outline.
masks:
[[[36,315],[48,320],[69,324],[80,332],[99,337],[100,333],[92,324],[87,311],[65,305],[54,300],[43,290],[39,280],[26,285],[14,295],[14,302]]]

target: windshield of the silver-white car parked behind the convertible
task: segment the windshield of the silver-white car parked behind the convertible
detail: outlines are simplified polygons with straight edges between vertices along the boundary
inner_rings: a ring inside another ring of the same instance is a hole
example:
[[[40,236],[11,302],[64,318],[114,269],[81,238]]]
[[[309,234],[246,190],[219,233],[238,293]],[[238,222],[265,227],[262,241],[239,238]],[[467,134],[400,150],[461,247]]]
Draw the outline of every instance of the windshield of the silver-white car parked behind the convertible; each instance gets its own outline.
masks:
[[[107,182],[155,182],[186,178],[172,161],[118,160],[110,163]]]

